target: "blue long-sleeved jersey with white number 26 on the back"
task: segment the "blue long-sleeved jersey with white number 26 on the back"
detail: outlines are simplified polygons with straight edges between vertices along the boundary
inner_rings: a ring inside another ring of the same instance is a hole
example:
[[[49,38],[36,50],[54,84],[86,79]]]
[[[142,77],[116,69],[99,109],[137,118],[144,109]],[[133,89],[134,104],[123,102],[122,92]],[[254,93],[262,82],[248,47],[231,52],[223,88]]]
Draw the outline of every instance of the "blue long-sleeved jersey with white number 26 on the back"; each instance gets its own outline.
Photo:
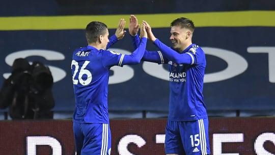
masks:
[[[112,39],[109,39],[114,43]],[[75,96],[73,121],[78,123],[108,123],[108,81],[112,66],[139,63],[147,38],[131,55],[124,55],[92,46],[81,47],[73,52],[72,81]],[[107,45],[109,47],[109,45]]]

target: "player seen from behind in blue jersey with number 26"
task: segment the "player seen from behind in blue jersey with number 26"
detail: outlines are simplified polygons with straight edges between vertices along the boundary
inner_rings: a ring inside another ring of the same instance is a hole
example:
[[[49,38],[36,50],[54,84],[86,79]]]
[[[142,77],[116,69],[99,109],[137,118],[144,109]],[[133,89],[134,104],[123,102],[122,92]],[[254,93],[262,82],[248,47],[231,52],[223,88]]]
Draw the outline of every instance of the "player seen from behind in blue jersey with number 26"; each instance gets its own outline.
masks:
[[[115,35],[108,39],[107,26],[92,21],[86,27],[88,46],[73,52],[72,81],[75,95],[73,132],[77,154],[110,154],[111,131],[108,117],[108,81],[112,66],[140,63],[147,42],[145,28],[141,40],[131,55],[106,50],[122,39],[125,20],[121,19]]]

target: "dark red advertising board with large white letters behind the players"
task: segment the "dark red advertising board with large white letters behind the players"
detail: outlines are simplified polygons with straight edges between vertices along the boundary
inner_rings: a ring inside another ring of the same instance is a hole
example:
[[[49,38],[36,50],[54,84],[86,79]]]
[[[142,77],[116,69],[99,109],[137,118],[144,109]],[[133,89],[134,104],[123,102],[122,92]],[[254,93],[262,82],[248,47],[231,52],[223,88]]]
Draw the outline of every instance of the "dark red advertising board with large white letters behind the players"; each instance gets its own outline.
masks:
[[[275,118],[209,118],[211,154],[275,154]],[[71,120],[1,121],[0,154],[75,154]],[[110,122],[113,155],[165,154],[166,119]]]

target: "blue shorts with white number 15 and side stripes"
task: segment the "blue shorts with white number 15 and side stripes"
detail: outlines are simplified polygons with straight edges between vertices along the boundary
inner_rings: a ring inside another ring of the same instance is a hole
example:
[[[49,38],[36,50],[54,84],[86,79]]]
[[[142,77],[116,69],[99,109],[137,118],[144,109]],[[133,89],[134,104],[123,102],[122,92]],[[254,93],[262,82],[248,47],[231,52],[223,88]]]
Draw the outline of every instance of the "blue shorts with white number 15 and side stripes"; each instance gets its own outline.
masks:
[[[208,118],[194,121],[167,121],[166,154],[210,154]]]

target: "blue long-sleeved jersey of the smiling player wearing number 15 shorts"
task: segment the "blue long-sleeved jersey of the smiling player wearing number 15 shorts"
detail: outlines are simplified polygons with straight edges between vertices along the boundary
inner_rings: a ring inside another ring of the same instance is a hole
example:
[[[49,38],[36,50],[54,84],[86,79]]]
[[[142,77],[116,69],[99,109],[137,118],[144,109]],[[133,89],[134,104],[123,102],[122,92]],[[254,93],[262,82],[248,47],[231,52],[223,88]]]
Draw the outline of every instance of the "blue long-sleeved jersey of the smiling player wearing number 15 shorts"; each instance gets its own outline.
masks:
[[[139,37],[131,37],[134,47]],[[158,39],[154,44],[160,51],[145,50],[143,61],[168,63],[170,81],[169,116],[172,121],[207,118],[203,99],[203,79],[206,67],[205,53],[196,45],[189,45],[181,54]]]

